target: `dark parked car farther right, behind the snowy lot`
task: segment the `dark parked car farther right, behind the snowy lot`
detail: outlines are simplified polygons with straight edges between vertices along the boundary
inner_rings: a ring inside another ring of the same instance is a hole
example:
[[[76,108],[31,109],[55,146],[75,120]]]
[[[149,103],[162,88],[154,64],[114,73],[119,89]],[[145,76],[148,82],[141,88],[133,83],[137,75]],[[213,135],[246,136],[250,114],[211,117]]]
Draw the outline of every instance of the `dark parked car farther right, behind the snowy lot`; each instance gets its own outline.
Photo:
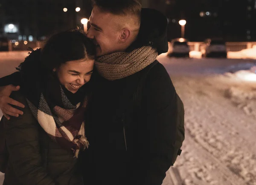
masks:
[[[207,39],[201,46],[202,57],[224,57],[227,58],[227,47],[224,40]]]

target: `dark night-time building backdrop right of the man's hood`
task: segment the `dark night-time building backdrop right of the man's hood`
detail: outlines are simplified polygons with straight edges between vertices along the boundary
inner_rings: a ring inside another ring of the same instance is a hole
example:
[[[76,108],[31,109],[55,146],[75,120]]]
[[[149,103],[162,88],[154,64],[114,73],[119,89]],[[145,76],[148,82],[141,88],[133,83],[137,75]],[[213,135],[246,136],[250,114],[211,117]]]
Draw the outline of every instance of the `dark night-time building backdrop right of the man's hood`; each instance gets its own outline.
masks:
[[[147,0],[147,5],[168,17],[169,40],[181,36],[178,21],[185,19],[191,41],[256,41],[256,0]]]

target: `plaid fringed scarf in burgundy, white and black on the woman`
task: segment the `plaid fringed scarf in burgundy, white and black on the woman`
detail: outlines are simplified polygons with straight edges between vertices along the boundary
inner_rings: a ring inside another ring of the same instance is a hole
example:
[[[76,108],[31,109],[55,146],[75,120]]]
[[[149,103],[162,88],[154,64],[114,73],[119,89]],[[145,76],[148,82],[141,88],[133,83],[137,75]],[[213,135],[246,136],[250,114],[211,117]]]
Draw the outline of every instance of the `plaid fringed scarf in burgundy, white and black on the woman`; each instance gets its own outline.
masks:
[[[65,95],[57,77],[49,77],[44,81],[38,80],[40,77],[34,77],[37,71],[35,68],[38,67],[35,63],[38,63],[36,60],[39,56],[40,51],[32,51],[19,66],[23,80],[21,91],[32,114],[48,136],[62,148],[72,149],[74,157],[77,158],[79,150],[89,146],[84,130],[88,97],[84,94],[81,102],[73,105]],[[32,61],[34,66],[28,65]]]

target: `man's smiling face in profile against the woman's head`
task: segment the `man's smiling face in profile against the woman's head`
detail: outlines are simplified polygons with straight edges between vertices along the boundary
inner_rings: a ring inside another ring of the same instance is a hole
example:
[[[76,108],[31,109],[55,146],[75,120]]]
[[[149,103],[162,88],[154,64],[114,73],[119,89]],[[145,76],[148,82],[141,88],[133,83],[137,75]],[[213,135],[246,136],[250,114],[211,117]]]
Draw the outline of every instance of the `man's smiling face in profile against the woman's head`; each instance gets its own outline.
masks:
[[[97,57],[120,51],[120,33],[116,22],[116,15],[93,8],[87,37],[96,44]]]

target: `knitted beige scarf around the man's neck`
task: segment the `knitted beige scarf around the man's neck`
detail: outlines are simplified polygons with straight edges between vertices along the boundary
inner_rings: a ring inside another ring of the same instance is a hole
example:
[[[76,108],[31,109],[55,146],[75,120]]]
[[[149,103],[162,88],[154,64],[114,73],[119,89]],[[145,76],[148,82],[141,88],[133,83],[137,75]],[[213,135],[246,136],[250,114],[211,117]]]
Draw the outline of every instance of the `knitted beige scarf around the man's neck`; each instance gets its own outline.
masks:
[[[99,74],[108,80],[128,77],[142,70],[157,58],[157,50],[143,46],[131,52],[118,52],[99,57],[95,66]]]

